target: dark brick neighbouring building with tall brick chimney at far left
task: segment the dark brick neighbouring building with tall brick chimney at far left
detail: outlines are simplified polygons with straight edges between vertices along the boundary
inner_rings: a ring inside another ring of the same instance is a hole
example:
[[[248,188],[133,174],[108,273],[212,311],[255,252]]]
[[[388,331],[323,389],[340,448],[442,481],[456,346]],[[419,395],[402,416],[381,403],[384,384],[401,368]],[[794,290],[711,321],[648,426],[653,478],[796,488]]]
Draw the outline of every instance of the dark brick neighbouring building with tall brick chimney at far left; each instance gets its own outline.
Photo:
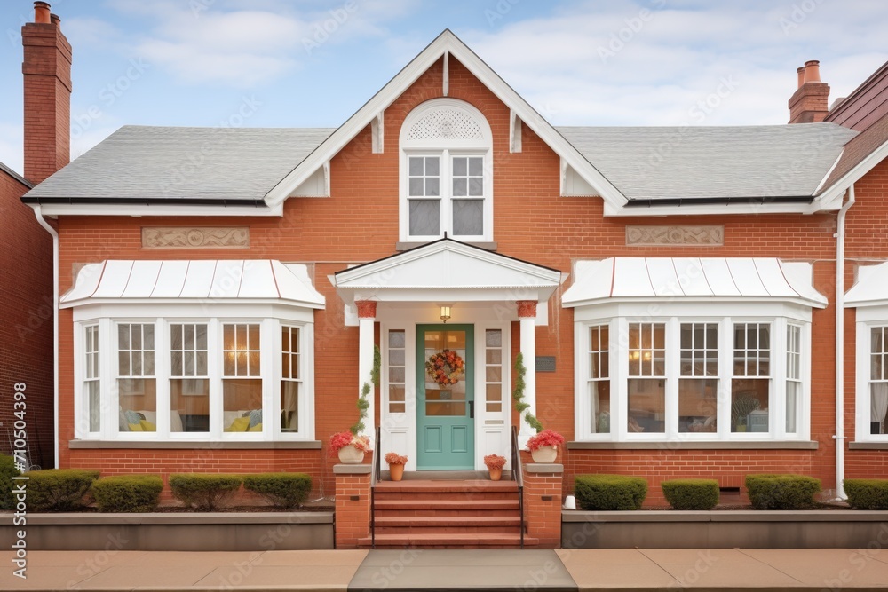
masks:
[[[71,46],[48,4],[38,14],[41,22],[22,28],[24,177],[0,163],[0,449],[5,454],[24,450],[31,467],[48,469],[55,466],[57,448],[52,364],[56,304],[53,242],[47,233],[54,223],[39,214],[39,207],[22,204],[20,197],[70,160]],[[16,392],[23,392],[24,399],[15,399]],[[27,438],[20,438],[22,432]]]

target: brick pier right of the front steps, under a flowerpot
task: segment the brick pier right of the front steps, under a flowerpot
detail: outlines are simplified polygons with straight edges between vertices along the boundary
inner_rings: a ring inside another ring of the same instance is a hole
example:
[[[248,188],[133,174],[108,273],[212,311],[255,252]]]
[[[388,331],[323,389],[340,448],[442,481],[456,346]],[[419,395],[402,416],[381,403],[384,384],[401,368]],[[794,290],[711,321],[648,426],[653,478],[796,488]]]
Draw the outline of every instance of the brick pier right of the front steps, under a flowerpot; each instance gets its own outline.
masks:
[[[532,462],[524,465],[524,519],[527,522],[527,536],[538,539],[542,549],[558,549],[561,546],[563,480],[563,464]]]

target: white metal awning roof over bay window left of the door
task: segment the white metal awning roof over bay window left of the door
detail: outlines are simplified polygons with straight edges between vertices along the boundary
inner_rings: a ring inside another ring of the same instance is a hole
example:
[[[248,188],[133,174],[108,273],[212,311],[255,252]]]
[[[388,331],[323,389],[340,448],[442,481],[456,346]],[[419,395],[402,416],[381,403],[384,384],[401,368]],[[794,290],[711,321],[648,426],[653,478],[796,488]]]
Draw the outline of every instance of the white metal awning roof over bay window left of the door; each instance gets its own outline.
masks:
[[[305,265],[273,259],[107,260],[84,266],[60,306],[183,300],[324,307]]]

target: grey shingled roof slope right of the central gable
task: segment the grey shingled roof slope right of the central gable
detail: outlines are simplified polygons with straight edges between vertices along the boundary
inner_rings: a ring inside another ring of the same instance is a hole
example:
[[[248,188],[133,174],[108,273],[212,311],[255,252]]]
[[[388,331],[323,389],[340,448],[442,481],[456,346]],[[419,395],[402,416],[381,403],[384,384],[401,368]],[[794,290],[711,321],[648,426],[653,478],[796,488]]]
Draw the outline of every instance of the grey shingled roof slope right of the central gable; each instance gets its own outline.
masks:
[[[630,206],[811,201],[844,143],[857,134],[835,123],[556,129]],[[659,146],[669,149],[657,152]]]

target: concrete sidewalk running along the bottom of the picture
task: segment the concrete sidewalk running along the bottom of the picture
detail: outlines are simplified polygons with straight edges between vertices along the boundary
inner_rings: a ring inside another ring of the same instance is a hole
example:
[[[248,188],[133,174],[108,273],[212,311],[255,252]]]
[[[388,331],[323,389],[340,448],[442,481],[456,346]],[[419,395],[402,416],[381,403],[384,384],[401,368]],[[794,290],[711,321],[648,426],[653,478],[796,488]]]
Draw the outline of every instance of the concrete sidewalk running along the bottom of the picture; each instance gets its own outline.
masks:
[[[0,552],[0,590],[888,590],[883,549]]]

